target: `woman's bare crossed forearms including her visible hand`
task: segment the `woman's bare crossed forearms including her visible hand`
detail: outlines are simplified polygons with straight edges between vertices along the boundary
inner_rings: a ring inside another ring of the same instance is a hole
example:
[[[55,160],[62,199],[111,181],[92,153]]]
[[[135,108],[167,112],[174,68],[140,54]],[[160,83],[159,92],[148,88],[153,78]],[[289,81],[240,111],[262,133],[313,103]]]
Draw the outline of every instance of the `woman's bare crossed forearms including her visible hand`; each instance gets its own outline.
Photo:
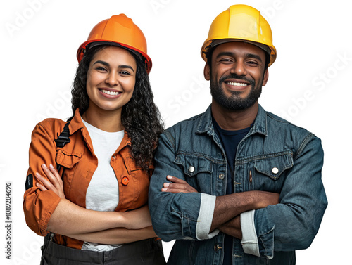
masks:
[[[102,244],[131,243],[156,237],[149,209],[130,212],[99,212],[85,209],[65,199],[63,181],[53,166],[42,165],[46,177],[35,174],[37,187],[52,190],[61,200],[51,215],[47,230],[70,238]]]

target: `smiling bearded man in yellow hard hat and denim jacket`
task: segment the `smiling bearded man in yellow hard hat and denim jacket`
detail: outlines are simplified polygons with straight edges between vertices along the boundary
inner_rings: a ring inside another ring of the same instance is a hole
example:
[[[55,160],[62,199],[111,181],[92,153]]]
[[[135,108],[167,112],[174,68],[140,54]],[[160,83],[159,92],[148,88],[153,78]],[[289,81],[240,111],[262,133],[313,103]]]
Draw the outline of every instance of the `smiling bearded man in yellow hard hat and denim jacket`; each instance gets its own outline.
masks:
[[[156,234],[176,240],[168,264],[295,264],[327,207],[323,151],[258,104],[276,58],[270,26],[230,6],[201,54],[212,103],[161,135],[149,188]]]

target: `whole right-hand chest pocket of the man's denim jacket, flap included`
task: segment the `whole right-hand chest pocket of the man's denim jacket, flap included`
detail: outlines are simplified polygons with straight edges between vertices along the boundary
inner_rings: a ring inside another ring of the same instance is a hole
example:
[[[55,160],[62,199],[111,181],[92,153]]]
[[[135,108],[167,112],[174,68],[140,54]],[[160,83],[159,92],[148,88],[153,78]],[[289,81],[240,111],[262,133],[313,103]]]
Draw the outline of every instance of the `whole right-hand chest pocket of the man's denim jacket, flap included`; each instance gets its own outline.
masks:
[[[288,169],[293,165],[291,152],[265,155],[254,160],[255,170],[249,172],[249,183],[253,189],[279,192]]]

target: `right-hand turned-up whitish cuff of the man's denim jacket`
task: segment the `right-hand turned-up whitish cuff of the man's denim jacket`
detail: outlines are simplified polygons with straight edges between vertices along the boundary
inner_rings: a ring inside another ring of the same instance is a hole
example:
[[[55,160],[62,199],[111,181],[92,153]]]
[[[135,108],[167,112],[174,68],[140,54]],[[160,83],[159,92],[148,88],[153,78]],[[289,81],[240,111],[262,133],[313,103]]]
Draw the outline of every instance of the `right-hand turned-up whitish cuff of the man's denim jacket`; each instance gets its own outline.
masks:
[[[244,253],[260,257],[256,226],[254,226],[254,210],[241,214],[241,244]]]

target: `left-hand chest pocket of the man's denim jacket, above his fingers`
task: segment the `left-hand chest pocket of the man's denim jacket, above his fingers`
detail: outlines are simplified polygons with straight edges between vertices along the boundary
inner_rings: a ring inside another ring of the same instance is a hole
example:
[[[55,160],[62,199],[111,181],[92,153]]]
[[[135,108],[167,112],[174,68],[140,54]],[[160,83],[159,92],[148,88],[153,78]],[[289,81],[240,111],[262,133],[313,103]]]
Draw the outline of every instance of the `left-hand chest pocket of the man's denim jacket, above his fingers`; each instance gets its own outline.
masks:
[[[201,193],[212,194],[213,161],[198,154],[180,153],[174,162],[182,168],[184,179],[191,186]]]

